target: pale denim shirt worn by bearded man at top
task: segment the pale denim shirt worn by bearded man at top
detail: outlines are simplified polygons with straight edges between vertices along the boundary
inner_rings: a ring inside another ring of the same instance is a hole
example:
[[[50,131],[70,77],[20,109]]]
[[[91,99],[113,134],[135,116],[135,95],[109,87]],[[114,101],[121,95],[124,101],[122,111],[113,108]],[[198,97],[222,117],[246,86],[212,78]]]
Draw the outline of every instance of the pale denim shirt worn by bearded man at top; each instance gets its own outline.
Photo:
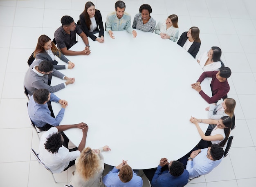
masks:
[[[132,33],[131,28],[131,16],[128,13],[124,13],[121,19],[117,18],[117,12],[112,12],[107,15],[106,31],[124,31]]]

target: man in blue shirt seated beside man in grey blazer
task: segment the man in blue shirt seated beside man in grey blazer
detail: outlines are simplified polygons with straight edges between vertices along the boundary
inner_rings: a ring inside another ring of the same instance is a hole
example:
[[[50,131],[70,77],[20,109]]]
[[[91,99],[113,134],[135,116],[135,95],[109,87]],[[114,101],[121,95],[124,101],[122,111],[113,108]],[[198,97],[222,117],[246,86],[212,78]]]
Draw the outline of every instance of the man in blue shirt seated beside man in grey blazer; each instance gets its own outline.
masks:
[[[60,103],[62,108],[56,118],[51,116],[51,111],[48,108],[47,102],[54,101]],[[58,98],[53,93],[46,89],[39,89],[34,91],[30,97],[27,111],[29,118],[41,131],[49,130],[52,127],[58,126],[63,119],[67,101]]]

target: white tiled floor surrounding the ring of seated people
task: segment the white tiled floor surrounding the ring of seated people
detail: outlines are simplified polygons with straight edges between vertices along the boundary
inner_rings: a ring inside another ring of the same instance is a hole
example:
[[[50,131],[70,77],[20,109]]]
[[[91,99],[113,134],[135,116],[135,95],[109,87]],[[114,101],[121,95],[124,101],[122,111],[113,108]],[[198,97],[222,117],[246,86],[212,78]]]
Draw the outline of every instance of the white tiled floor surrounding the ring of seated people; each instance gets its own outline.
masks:
[[[103,22],[116,0],[92,0]],[[27,58],[39,35],[53,38],[63,15],[79,19],[84,0],[0,0],[0,183],[5,187],[43,187],[69,184],[74,167],[52,176],[30,154],[38,137],[29,125],[23,94]],[[232,70],[229,97],[236,99],[236,129],[229,156],[210,174],[192,180],[189,187],[256,186],[256,1],[255,0],[126,0],[133,16],[148,3],[157,20],[179,16],[180,35],[200,28],[200,53],[222,48],[222,60]],[[186,78],[186,77],[185,77]],[[146,180],[144,186],[148,186]]]

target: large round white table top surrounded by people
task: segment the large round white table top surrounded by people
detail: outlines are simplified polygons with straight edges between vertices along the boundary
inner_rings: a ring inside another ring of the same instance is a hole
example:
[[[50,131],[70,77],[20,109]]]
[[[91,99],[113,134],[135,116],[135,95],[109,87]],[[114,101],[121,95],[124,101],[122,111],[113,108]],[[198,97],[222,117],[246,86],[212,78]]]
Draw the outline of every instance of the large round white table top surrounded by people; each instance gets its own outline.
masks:
[[[200,141],[189,119],[207,118],[208,103],[190,87],[203,71],[189,53],[155,33],[137,33],[133,39],[126,31],[114,31],[114,40],[105,33],[102,44],[88,38],[91,54],[67,56],[75,67],[60,70],[75,83],[55,94],[69,104],[61,125],[88,124],[85,147],[109,145],[112,150],[103,153],[106,164],[124,159],[133,169],[147,169],[157,167],[162,157],[177,160]],[[79,38],[71,49],[84,47]],[[61,82],[52,79],[52,85]],[[211,95],[208,81],[202,89]],[[58,103],[52,106],[55,114],[61,109]],[[80,129],[65,134],[79,145]]]

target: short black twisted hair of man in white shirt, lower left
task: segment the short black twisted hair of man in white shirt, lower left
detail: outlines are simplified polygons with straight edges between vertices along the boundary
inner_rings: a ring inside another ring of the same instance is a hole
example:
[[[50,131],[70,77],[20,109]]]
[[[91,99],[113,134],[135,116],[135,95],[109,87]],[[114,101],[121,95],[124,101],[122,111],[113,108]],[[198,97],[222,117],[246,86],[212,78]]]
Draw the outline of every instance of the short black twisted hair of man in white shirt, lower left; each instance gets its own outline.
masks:
[[[45,149],[48,152],[54,154],[54,153],[58,153],[58,149],[61,146],[62,146],[61,134],[56,132],[49,134],[45,142]]]

